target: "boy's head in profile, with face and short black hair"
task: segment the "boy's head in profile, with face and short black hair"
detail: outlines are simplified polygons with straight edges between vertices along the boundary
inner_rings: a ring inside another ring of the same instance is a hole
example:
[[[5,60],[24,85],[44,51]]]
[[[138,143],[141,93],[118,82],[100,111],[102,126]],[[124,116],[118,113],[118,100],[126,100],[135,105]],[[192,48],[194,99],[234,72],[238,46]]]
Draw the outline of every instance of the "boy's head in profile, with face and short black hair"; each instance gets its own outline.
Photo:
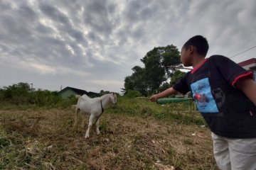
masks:
[[[185,67],[192,65],[192,58],[195,57],[206,57],[209,45],[201,35],[196,35],[190,38],[181,48],[181,62]]]

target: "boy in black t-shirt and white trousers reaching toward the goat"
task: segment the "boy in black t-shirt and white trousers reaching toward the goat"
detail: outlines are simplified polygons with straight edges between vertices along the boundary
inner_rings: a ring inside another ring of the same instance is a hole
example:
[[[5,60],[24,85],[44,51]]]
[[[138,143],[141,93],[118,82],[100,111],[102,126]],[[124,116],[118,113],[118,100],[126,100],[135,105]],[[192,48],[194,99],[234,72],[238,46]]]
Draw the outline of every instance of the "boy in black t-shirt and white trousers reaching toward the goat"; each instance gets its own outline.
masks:
[[[256,84],[253,74],[221,55],[205,58],[208,42],[201,35],[181,49],[181,62],[191,72],[151,101],[191,91],[213,137],[220,169],[256,169]]]

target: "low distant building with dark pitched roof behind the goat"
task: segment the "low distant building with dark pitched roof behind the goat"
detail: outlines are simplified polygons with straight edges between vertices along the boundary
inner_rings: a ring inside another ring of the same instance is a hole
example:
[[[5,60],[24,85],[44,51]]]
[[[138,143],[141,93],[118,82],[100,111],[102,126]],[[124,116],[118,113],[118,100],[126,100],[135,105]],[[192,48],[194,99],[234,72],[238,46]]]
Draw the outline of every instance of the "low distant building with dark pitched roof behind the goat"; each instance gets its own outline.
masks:
[[[71,96],[75,96],[75,95],[80,95],[82,96],[83,94],[86,94],[87,96],[90,96],[91,98],[94,98],[94,97],[97,97],[97,96],[100,96],[100,94],[97,94],[95,92],[92,92],[92,91],[85,91],[85,90],[82,90],[82,89],[75,89],[73,87],[70,87],[70,86],[67,86],[65,87],[64,89],[58,91],[58,94],[60,94],[60,96],[62,98],[70,98]]]

